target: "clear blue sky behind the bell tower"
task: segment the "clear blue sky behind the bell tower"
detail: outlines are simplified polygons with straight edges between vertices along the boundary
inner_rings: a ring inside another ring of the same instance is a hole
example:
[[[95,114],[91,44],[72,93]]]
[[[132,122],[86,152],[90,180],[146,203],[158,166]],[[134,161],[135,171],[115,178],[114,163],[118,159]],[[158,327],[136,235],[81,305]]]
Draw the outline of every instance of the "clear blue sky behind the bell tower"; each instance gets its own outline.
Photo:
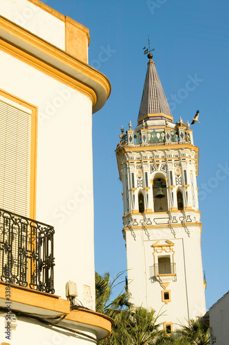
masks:
[[[226,0],[48,0],[90,30],[89,64],[111,81],[93,117],[95,259],[98,273],[125,270],[122,184],[115,149],[123,125],[137,124],[151,39],[153,60],[175,122],[191,121],[199,146],[199,210],[207,309],[229,288],[228,108],[229,3]],[[104,52],[103,54],[101,52]],[[101,59],[102,57],[102,59]],[[190,78],[195,88],[186,90]]]

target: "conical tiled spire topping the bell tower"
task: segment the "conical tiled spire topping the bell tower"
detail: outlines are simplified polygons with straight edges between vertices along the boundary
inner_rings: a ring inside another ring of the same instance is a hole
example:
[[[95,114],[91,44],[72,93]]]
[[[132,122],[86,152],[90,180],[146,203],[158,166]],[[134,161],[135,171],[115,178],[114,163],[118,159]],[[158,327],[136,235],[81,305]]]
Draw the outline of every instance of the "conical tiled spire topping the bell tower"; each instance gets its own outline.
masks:
[[[157,75],[157,70],[151,57],[153,57],[153,55],[149,56],[150,60],[148,62],[146,79],[144,81],[142,101],[138,114],[138,123],[142,121],[143,117],[144,119],[147,119],[148,117],[150,119],[153,119],[153,117],[155,119],[167,118],[168,121],[173,121],[173,116],[168,106],[168,101],[164,95],[162,84]]]

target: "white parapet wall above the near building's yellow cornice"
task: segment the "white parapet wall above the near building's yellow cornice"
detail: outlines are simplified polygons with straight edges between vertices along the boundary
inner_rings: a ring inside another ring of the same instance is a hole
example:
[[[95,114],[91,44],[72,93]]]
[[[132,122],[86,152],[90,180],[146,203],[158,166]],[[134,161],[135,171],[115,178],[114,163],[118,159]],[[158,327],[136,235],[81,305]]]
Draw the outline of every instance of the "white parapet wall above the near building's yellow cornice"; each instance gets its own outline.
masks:
[[[47,3],[47,0],[43,0]],[[65,23],[27,0],[0,0],[1,16],[65,50]]]

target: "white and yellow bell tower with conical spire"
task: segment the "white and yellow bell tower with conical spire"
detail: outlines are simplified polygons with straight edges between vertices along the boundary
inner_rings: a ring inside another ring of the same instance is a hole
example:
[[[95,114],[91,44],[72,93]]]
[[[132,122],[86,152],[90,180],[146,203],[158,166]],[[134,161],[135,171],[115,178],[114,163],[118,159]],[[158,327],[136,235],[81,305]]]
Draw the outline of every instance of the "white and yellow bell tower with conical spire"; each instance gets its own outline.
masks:
[[[198,205],[199,148],[177,123],[149,53],[138,126],[116,148],[131,302],[153,308],[170,332],[206,313]]]

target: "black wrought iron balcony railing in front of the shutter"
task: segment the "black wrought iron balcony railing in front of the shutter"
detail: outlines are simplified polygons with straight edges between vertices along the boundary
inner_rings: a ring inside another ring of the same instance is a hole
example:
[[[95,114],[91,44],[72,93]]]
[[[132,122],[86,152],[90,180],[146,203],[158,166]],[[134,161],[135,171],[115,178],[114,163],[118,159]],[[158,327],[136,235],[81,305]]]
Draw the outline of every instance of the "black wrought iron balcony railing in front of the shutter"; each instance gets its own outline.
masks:
[[[54,228],[0,208],[0,279],[54,293]]]

